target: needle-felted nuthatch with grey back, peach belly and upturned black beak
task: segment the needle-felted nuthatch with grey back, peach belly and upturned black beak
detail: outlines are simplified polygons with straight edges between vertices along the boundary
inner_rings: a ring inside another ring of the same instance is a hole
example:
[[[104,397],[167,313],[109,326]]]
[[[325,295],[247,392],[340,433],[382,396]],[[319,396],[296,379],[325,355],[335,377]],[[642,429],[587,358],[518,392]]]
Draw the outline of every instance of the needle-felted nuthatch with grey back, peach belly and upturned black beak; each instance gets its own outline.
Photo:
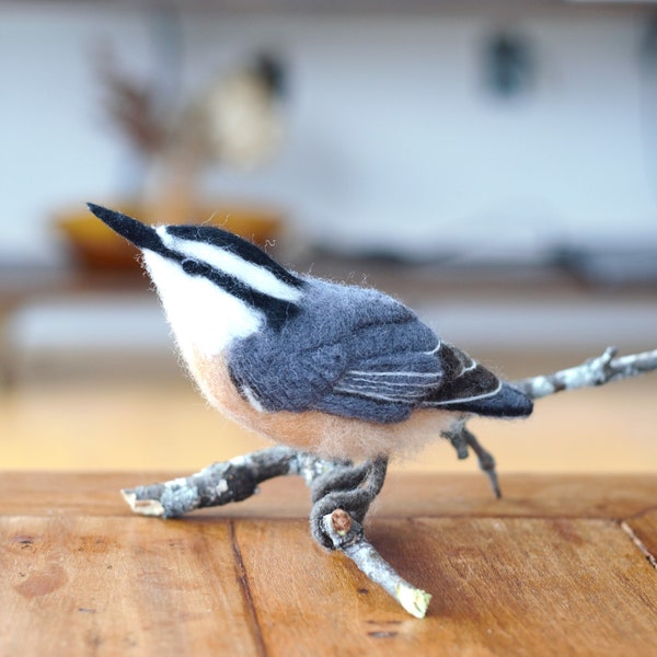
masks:
[[[296,274],[217,227],[154,228],[89,208],[141,251],[205,397],[276,442],[333,459],[389,457],[464,415],[532,411],[380,291]]]

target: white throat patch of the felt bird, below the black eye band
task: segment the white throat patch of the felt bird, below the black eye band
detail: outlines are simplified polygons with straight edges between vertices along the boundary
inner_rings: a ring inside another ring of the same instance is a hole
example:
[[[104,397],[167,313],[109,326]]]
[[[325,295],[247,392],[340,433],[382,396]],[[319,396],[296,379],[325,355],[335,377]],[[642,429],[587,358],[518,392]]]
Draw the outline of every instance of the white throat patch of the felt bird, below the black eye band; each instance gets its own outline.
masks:
[[[233,339],[255,333],[264,315],[201,276],[187,276],[177,263],[145,250],[143,263],[155,284],[183,357],[192,350],[220,354]]]

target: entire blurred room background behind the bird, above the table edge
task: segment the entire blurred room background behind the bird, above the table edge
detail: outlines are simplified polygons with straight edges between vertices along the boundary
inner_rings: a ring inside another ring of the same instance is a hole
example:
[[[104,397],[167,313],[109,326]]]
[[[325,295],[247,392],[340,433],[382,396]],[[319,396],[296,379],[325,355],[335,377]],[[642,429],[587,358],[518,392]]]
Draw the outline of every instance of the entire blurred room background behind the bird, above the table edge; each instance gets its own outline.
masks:
[[[0,468],[265,445],[196,393],[88,200],[380,287],[510,378],[657,347],[657,3],[456,4],[0,1]],[[656,392],[474,428],[503,473],[654,471]]]

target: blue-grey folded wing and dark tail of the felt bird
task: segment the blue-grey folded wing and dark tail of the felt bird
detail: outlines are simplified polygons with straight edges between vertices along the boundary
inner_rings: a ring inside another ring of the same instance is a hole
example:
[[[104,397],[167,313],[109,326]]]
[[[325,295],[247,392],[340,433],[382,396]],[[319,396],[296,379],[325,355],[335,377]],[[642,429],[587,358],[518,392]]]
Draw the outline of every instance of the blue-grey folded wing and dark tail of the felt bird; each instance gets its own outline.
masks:
[[[231,354],[233,382],[265,411],[314,410],[380,424],[419,407],[528,414],[522,393],[441,343],[406,307],[388,297],[374,301],[383,304],[374,318],[301,315],[280,332],[246,338]],[[335,304],[333,312],[339,313]]]

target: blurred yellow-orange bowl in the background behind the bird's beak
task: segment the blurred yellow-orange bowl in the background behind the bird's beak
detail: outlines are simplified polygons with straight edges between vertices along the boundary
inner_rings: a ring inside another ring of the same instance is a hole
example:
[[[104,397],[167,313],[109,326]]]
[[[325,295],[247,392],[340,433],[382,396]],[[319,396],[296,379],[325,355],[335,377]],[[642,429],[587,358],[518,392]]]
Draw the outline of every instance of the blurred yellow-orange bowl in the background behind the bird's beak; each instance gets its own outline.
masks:
[[[107,204],[140,221],[157,223],[154,208],[135,203]],[[264,246],[280,234],[283,212],[246,205],[205,205],[194,208],[194,221],[219,226]],[[153,219],[151,221],[151,218]],[[137,249],[88,210],[58,212],[55,226],[70,245],[76,262],[90,269],[137,270]]]

